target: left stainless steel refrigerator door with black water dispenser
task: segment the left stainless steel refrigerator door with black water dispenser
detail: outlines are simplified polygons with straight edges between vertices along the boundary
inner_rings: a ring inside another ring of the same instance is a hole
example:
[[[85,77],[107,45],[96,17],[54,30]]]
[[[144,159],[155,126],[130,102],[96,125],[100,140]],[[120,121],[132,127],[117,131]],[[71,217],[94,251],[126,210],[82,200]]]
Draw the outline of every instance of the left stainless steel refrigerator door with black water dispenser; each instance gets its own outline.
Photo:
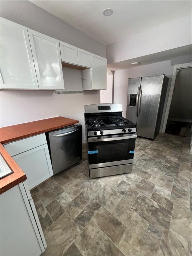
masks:
[[[141,77],[129,78],[126,118],[135,124],[137,123],[138,96],[140,85]]]

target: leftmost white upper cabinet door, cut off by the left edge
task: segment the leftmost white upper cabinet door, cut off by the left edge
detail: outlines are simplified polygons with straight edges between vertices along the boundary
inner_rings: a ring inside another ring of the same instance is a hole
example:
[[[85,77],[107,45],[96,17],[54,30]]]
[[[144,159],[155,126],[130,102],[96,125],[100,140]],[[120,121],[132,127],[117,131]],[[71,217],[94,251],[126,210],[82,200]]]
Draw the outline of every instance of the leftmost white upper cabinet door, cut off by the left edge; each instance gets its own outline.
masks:
[[[0,18],[1,89],[38,89],[27,28]]]

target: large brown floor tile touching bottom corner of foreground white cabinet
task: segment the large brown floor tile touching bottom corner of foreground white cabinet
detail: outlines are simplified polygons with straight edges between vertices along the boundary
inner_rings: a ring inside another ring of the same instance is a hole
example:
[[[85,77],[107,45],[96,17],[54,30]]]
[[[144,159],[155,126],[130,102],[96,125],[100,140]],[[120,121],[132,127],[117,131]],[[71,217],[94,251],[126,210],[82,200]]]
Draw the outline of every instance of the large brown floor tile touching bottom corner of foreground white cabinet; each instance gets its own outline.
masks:
[[[79,233],[79,228],[70,219],[67,213],[63,213],[63,215],[45,231],[44,235],[47,248],[42,255],[62,256]]]

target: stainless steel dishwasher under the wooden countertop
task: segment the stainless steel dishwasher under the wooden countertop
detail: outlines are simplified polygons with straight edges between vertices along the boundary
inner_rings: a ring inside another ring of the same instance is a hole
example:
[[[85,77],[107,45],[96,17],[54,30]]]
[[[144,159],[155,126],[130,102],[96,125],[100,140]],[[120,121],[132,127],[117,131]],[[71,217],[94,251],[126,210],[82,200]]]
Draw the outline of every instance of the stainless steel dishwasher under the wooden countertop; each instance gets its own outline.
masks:
[[[82,125],[71,125],[46,133],[53,173],[82,159]]]

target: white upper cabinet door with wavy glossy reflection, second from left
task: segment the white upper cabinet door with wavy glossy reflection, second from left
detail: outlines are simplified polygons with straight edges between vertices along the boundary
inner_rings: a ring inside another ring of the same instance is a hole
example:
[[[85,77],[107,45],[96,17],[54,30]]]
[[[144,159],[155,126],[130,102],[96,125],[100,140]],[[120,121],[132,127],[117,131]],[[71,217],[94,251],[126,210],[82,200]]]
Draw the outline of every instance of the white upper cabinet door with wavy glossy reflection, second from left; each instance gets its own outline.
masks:
[[[64,89],[59,40],[28,29],[39,89]]]

